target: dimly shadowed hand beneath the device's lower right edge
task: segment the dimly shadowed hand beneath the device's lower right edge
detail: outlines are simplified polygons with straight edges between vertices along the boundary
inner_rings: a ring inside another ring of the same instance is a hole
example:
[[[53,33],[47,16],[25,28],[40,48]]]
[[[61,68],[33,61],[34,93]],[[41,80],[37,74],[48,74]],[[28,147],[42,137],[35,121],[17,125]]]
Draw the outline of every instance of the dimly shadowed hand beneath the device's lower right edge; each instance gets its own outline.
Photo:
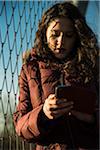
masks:
[[[79,120],[92,123],[94,121],[93,115],[82,113],[76,110],[72,110],[71,113]]]

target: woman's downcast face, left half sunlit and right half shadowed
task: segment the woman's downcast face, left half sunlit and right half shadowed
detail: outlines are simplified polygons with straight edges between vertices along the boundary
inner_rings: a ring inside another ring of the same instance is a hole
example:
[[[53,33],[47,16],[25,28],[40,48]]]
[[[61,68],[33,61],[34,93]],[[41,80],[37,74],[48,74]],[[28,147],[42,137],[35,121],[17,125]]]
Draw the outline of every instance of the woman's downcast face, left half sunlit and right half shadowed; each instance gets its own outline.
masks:
[[[68,18],[51,21],[46,31],[48,47],[58,59],[69,55],[75,47],[76,37],[74,25]]]

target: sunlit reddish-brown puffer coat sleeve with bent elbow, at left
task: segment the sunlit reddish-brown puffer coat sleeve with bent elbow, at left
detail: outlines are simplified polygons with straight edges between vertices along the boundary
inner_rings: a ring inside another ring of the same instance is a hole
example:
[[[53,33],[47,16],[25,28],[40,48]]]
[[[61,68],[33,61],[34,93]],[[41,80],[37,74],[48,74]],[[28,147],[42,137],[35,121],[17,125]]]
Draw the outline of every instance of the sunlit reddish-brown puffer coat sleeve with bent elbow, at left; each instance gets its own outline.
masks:
[[[42,107],[43,104],[40,102],[33,108],[27,76],[22,67],[19,79],[19,102],[16,112],[13,114],[18,136],[35,143],[49,134],[52,128],[54,128],[58,120],[49,120],[43,113]]]

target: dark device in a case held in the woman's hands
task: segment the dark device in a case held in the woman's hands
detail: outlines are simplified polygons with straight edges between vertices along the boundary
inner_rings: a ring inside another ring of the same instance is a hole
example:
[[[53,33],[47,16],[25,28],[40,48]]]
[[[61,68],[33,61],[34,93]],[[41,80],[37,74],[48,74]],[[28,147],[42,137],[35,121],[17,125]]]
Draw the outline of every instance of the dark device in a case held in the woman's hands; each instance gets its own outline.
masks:
[[[96,93],[90,89],[77,86],[58,86],[55,88],[58,99],[74,102],[74,109],[91,114],[95,111]]]

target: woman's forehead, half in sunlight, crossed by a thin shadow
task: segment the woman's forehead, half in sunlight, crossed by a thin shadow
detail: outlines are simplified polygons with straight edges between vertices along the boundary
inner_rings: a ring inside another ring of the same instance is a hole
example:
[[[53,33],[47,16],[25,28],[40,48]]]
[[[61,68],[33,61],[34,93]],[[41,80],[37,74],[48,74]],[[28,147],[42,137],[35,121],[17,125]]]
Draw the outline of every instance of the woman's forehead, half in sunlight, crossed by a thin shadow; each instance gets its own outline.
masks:
[[[57,18],[49,23],[49,30],[69,31],[74,29],[73,22],[68,18]]]

